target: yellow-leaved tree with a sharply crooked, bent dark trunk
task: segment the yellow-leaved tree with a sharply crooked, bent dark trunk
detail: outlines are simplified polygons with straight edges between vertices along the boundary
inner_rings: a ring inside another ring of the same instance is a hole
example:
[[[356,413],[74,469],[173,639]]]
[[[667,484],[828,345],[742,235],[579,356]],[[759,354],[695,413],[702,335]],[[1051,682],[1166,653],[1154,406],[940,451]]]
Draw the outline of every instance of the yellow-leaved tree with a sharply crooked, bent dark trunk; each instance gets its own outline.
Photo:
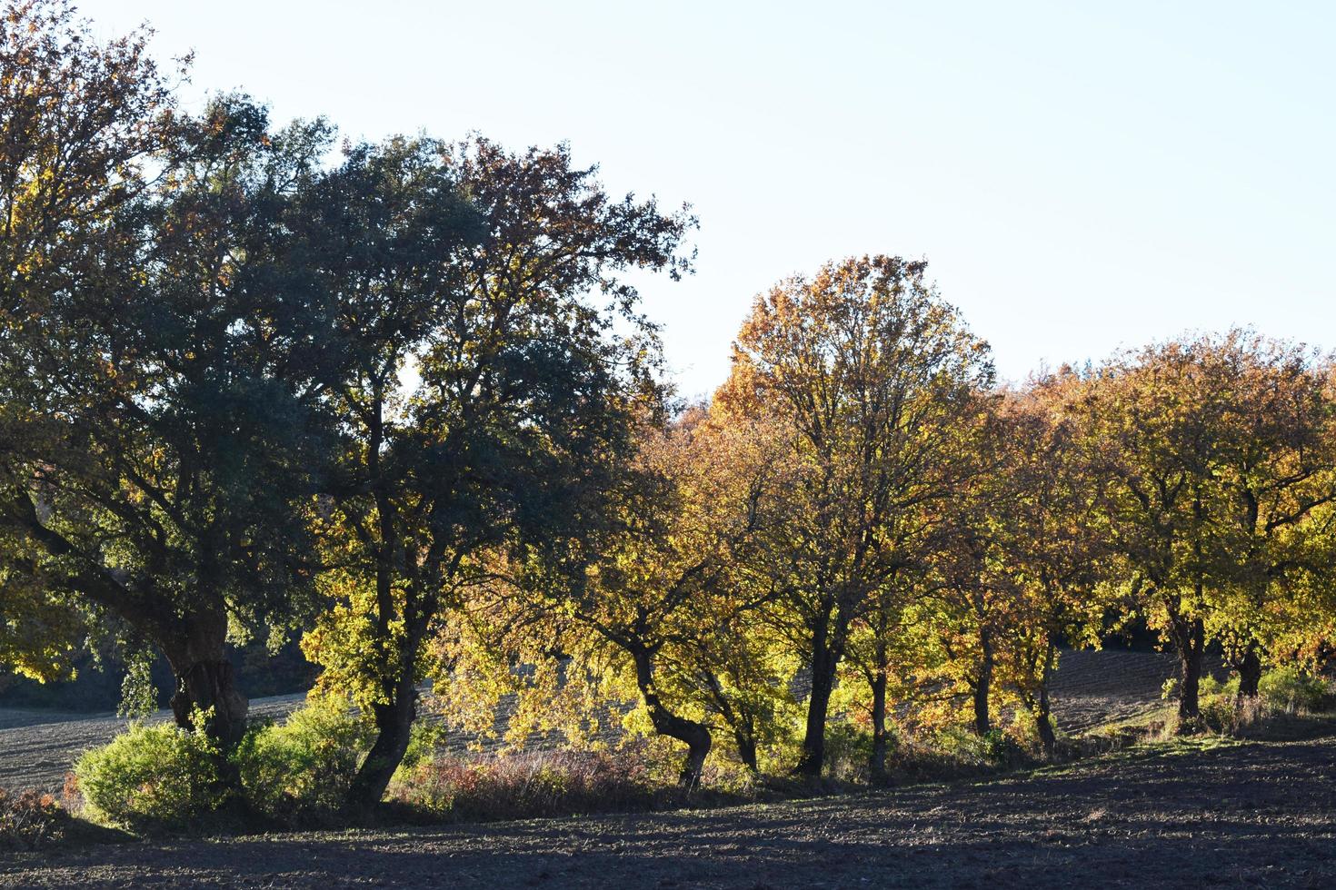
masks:
[[[755,770],[763,690],[780,683],[744,628],[758,603],[739,571],[775,479],[767,443],[749,432],[703,408],[647,423],[585,571],[566,583],[517,578],[478,598],[472,639],[453,640],[453,669],[500,674],[497,689],[518,693],[524,711],[546,711],[525,731],[561,729],[572,741],[609,703],[639,702],[625,722],[687,746],[683,789],[700,782],[716,719]],[[504,655],[480,658],[480,647]]]

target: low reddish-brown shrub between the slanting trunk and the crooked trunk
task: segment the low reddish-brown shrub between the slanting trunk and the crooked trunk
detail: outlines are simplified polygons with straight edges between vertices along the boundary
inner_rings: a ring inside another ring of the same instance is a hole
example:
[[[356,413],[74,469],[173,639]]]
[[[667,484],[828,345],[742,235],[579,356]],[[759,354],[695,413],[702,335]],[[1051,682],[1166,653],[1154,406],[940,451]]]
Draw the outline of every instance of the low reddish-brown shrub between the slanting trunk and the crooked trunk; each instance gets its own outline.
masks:
[[[669,793],[637,759],[605,751],[444,755],[406,770],[390,789],[401,803],[461,822],[647,810]]]

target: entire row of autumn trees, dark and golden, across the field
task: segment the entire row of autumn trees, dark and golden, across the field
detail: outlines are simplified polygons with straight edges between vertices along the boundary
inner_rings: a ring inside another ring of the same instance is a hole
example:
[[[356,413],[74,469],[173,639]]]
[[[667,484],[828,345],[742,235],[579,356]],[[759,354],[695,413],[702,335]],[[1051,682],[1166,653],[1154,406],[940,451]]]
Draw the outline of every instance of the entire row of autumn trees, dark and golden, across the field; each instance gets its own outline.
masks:
[[[758,299],[708,406],[675,404],[629,270],[691,268],[687,208],[564,148],[345,145],[244,97],[175,104],[144,35],[60,0],[0,35],[0,658],[63,670],[90,623],[162,652],[226,750],[226,643],[303,634],[403,758],[418,689],[489,727],[629,709],[741,762],[896,705],[1054,734],[1062,643],[1161,632],[1197,711],[1217,640],[1325,655],[1327,363],[1248,332],[1018,390],[898,258]]]

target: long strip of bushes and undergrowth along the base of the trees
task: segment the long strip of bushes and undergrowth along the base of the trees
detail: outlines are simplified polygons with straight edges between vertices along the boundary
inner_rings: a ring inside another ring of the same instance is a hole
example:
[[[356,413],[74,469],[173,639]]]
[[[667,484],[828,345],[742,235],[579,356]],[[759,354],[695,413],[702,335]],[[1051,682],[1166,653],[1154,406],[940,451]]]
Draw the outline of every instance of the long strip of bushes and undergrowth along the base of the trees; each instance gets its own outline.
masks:
[[[1042,755],[1027,715],[982,735],[963,726],[894,723],[880,783],[983,779],[1146,742],[1162,751],[1196,751],[1232,738],[1267,738],[1268,733],[1301,738],[1321,723],[1307,715],[1336,705],[1328,682],[1288,669],[1267,674],[1257,698],[1240,698],[1236,682],[1208,679],[1201,691],[1194,735],[1178,731],[1166,705],[1079,735],[1059,733],[1051,759]],[[1308,723],[1300,726],[1304,721]],[[871,737],[851,723],[831,726],[820,778],[782,771],[795,751],[766,751],[763,771],[755,773],[720,746],[707,763],[701,786],[689,791],[676,786],[680,751],[667,739],[639,739],[612,751],[508,754],[448,753],[441,742],[440,727],[424,723],[415,730],[409,757],[387,793],[389,818],[489,822],[569,817],[684,803],[770,802],[876,785],[868,773]],[[67,810],[140,834],[350,823],[343,801],[369,746],[365,722],[346,705],[331,702],[311,702],[282,723],[253,726],[227,758],[203,734],[170,725],[132,725],[79,759],[67,783],[65,809],[51,795],[0,791],[0,845],[31,849],[59,839],[69,822]]]

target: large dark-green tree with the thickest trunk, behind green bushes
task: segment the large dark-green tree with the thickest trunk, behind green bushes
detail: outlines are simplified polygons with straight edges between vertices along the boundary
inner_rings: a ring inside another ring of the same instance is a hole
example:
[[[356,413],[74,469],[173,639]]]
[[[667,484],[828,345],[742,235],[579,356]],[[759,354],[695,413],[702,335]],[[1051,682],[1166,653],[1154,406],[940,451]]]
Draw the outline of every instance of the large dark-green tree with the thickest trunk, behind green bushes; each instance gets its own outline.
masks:
[[[4,342],[5,555],[36,555],[48,595],[156,646],[178,723],[204,713],[226,746],[246,718],[228,632],[282,623],[311,570],[314,406],[293,363],[285,212],[326,133],[273,133],[220,100],[171,136],[155,181],[61,248]]]

